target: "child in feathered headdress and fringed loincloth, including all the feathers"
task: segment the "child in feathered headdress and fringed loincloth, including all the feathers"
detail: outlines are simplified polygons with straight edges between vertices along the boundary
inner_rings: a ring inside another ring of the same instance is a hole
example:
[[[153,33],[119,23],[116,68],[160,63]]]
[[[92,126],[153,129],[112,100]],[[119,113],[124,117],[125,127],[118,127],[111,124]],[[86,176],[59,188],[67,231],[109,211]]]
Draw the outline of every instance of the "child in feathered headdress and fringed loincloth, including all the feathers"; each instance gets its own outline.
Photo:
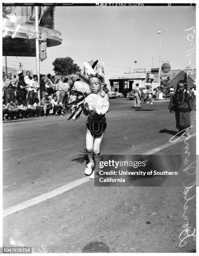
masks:
[[[88,164],[85,174],[90,175],[90,179],[95,178],[94,168],[97,171],[101,158],[100,145],[103,133],[106,130],[105,113],[109,108],[108,93],[103,91],[104,63],[102,62],[99,65],[97,62],[91,60],[90,64],[87,62],[83,63],[87,68],[88,79],[78,74],[84,82],[81,81],[80,84],[76,84],[76,87],[74,84],[75,88],[73,92],[76,94],[76,100],[70,103],[72,106],[72,115],[68,118],[68,120],[71,118],[76,120],[80,118],[82,113],[88,116],[85,149],[85,153],[88,155]],[[85,95],[88,96],[86,97]]]

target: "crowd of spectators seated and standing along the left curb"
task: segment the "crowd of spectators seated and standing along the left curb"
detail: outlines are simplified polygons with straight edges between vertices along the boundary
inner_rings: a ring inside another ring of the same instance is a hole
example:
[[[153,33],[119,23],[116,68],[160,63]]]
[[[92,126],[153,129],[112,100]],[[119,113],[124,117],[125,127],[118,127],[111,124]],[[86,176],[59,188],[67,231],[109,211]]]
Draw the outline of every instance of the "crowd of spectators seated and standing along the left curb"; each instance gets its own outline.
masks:
[[[50,74],[40,75],[40,101],[38,97],[38,76],[26,72],[18,72],[13,79],[12,73],[3,76],[3,120],[34,118],[54,115],[66,115],[70,88],[75,82],[71,77],[62,76],[55,81]]]

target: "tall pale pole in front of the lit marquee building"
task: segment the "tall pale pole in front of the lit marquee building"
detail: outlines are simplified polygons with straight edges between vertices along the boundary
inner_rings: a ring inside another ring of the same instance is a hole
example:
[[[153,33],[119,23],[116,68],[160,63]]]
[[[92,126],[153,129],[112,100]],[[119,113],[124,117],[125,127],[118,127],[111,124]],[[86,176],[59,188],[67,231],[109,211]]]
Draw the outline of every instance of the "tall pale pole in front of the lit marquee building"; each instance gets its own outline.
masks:
[[[39,15],[38,6],[35,6],[35,29],[36,29],[36,66],[37,66],[37,76],[38,76],[38,99],[40,101],[40,58],[39,58]]]

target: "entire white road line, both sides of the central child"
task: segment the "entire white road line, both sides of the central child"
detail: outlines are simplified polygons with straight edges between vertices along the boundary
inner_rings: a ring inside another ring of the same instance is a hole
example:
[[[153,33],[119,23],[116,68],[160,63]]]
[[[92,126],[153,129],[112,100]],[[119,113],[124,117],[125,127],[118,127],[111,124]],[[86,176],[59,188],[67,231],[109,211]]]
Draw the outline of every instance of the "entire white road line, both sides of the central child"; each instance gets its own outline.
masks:
[[[190,138],[194,137],[194,136],[196,136],[196,133],[191,134]],[[154,154],[154,153],[156,153],[158,151],[161,151],[164,148],[167,148],[169,146],[172,146],[172,145],[174,145],[174,144],[176,144],[178,142],[182,142],[182,141],[183,141],[183,139],[180,138],[179,140],[174,141],[172,143],[171,142],[170,143],[166,143],[166,144],[164,144],[164,145],[162,145],[160,147],[157,147],[157,148],[151,149],[149,151],[146,151],[145,153],[143,153],[141,155],[151,155],[151,154]],[[68,191],[70,189],[73,189],[74,187],[77,187],[77,186],[79,186],[79,185],[81,185],[81,184],[83,184],[85,182],[88,182],[89,180],[91,180],[91,179],[89,179],[89,177],[84,177],[82,179],[78,179],[78,180],[76,180],[74,182],[66,184],[63,187],[59,187],[59,188],[57,188],[57,189],[55,189],[53,191],[47,192],[47,193],[45,193],[43,195],[40,195],[38,197],[34,197],[34,198],[32,198],[32,199],[30,199],[28,201],[25,201],[25,202],[22,202],[22,203],[20,203],[18,205],[14,205],[14,206],[12,206],[10,208],[7,208],[7,209],[3,210],[3,217],[8,216],[8,215],[10,215],[12,213],[18,212],[20,210],[23,210],[25,208],[28,208],[28,207],[30,207],[32,205],[36,205],[36,204],[38,204],[40,202],[48,200],[48,199],[50,199],[52,197],[55,197],[57,195],[60,195],[60,194],[66,192],[66,191]]]

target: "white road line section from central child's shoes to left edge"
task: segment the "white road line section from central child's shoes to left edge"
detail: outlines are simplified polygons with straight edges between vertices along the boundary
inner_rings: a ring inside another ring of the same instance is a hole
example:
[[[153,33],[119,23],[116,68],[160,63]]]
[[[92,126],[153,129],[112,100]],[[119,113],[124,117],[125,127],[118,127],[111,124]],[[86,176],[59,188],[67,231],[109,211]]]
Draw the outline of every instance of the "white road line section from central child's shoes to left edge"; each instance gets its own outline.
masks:
[[[28,201],[22,202],[22,203],[20,203],[18,205],[14,205],[14,206],[12,206],[10,208],[7,208],[7,209],[5,209],[3,211],[3,217],[8,216],[8,215],[10,215],[10,214],[12,214],[14,212],[18,212],[20,210],[23,210],[23,209],[25,209],[27,207],[30,207],[32,205],[36,205],[36,204],[38,204],[40,202],[43,202],[43,201],[45,201],[45,200],[47,200],[49,198],[55,197],[57,195],[60,195],[60,194],[62,194],[65,191],[68,191],[68,190],[70,190],[70,189],[72,189],[74,187],[77,187],[77,186],[85,183],[85,182],[88,182],[89,180],[91,180],[91,179],[89,179],[88,177],[84,177],[82,179],[78,179],[78,180],[76,180],[74,182],[66,184],[63,187],[59,187],[58,189],[55,189],[53,191],[50,191],[50,192],[45,193],[43,195],[40,195],[38,197],[32,198],[32,199],[30,199]]]

